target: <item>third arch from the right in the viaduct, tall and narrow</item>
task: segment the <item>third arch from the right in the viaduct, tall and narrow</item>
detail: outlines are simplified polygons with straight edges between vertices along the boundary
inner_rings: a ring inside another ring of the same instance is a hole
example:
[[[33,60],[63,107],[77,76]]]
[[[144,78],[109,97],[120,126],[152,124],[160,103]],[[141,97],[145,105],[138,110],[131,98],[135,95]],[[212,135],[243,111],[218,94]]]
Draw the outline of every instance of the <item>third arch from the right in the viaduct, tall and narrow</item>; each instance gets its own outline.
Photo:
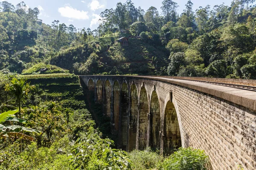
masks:
[[[140,90],[140,105],[139,105],[139,150],[144,150],[147,147],[147,132],[148,132],[148,94],[145,85]]]

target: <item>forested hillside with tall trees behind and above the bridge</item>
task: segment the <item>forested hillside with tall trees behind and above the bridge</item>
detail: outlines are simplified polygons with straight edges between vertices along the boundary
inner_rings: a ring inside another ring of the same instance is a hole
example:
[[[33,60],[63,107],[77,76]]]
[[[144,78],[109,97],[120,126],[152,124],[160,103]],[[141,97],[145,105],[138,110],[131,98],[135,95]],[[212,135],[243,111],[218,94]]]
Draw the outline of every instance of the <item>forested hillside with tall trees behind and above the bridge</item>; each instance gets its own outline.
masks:
[[[1,2],[0,70],[19,74],[154,74],[256,79],[255,0],[192,10],[131,0],[101,13],[99,27],[47,25],[38,8]],[[120,37],[128,37],[122,46]]]

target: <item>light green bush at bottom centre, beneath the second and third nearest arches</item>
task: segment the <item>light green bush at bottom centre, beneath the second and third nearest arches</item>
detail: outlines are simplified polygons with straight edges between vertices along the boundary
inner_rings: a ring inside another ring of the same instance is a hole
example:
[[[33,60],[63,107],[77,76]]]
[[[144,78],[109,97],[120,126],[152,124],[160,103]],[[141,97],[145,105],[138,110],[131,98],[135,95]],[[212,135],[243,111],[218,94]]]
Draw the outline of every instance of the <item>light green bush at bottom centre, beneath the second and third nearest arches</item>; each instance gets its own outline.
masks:
[[[153,152],[150,148],[146,150],[133,150],[128,153],[131,159],[131,169],[133,170],[148,170],[148,169],[161,169],[163,156]]]

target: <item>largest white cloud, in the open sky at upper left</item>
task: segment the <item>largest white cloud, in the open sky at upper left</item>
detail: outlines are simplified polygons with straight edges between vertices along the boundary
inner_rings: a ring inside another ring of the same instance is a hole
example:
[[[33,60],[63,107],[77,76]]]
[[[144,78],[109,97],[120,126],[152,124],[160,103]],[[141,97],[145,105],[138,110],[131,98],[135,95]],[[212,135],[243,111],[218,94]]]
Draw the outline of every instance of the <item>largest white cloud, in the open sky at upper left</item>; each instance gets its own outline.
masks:
[[[87,11],[79,11],[71,6],[65,6],[58,8],[58,12],[61,13],[62,17],[73,18],[76,20],[88,20],[89,16]]]

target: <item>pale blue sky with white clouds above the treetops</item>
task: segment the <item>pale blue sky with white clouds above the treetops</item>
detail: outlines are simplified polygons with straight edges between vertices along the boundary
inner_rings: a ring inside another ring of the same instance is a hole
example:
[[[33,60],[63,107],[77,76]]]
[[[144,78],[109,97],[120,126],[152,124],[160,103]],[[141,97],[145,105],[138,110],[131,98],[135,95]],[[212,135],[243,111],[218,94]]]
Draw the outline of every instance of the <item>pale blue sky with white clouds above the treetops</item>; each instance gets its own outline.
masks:
[[[0,0],[3,1],[3,0]],[[50,24],[53,20],[59,20],[66,25],[73,24],[76,28],[97,28],[99,14],[106,8],[114,8],[116,3],[125,3],[126,0],[7,0],[13,5],[24,1],[30,8],[38,7],[41,11],[39,19]],[[178,13],[181,14],[188,0],[174,0],[178,3]],[[199,6],[211,7],[225,3],[230,6],[232,0],[191,0],[193,9]],[[134,6],[141,6],[146,11],[150,6],[161,12],[162,0],[133,0]]]

